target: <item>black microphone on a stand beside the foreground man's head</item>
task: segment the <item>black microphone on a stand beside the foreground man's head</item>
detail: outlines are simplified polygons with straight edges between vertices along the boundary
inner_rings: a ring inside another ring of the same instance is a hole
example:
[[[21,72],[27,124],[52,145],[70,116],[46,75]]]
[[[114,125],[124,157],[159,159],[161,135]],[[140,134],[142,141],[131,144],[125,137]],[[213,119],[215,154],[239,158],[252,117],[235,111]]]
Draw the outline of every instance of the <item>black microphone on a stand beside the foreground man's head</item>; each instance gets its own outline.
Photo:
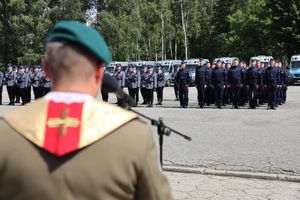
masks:
[[[117,80],[107,73],[103,75],[101,90],[106,93],[115,93],[119,99],[119,106],[122,108],[128,109],[136,105],[135,100],[119,87]]]

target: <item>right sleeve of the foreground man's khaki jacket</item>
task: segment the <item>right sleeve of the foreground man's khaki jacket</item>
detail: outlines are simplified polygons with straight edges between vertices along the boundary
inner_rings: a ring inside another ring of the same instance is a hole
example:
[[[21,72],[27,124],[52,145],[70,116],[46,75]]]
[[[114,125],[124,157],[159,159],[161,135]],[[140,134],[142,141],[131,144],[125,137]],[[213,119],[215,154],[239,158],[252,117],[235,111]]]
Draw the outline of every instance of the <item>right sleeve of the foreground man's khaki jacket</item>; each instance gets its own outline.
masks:
[[[144,166],[137,183],[137,200],[172,200],[170,185],[158,161],[157,149],[149,129]]]

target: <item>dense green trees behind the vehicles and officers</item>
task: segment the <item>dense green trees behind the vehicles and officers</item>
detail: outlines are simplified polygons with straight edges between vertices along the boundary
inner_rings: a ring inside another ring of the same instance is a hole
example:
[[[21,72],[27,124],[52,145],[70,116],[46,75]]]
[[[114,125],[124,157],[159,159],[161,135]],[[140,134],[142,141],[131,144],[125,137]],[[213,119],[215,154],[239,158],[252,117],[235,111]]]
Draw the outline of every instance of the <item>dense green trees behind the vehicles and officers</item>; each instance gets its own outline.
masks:
[[[300,53],[299,0],[0,0],[0,65],[39,62],[64,19],[100,30],[114,60]]]

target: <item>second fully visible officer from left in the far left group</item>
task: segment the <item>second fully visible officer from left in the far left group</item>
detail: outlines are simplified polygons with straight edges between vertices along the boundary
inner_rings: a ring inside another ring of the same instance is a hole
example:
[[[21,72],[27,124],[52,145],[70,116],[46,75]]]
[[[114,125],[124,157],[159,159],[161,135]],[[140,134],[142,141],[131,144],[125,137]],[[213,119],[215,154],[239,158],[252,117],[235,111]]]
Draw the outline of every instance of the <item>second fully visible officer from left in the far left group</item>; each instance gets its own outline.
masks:
[[[29,75],[25,73],[25,67],[20,66],[19,72],[17,75],[17,88],[22,99],[22,105],[28,103],[28,96],[27,96],[27,87],[29,84]]]

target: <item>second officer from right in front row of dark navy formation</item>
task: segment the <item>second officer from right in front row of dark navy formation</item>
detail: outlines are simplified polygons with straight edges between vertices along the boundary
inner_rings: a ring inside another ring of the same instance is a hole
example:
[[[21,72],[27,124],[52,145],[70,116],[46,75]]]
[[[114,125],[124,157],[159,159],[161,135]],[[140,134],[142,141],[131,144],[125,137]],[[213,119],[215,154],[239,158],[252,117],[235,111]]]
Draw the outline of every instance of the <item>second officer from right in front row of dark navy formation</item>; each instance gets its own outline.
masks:
[[[246,80],[249,88],[249,108],[256,109],[257,106],[257,90],[259,80],[259,69],[256,66],[256,60],[251,62],[251,66],[247,70]]]

